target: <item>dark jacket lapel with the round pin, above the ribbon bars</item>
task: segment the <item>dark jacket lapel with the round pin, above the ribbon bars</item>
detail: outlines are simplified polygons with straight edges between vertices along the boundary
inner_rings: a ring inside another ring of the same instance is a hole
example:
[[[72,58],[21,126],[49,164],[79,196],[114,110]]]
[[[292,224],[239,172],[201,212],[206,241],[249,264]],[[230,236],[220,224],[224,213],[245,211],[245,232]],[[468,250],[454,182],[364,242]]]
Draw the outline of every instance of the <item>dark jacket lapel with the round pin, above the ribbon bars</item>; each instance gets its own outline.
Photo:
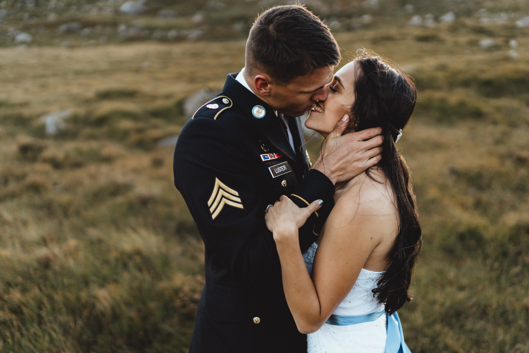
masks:
[[[229,96],[235,104],[239,105],[245,113],[247,113],[248,119],[251,119],[254,124],[259,126],[270,143],[273,144],[283,156],[286,156],[295,162],[295,152],[292,150],[292,147],[290,147],[287,134],[279,121],[280,118],[276,116],[270,105],[242,86],[235,80],[235,77],[236,74],[228,75],[226,83],[224,84],[223,92]],[[256,105],[260,105],[266,110],[266,115],[261,119],[257,119],[252,115],[252,109]]]

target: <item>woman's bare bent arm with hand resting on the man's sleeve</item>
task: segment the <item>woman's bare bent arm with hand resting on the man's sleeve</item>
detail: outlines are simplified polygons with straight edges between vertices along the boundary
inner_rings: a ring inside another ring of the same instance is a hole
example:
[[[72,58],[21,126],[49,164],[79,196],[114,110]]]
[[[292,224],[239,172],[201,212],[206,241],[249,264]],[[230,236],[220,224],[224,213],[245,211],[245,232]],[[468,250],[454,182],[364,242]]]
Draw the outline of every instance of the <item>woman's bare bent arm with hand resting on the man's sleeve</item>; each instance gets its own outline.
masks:
[[[351,291],[370,256],[375,266],[376,259],[380,260],[381,268],[375,270],[383,270],[389,249],[381,245],[388,234],[396,234],[395,211],[377,187],[352,187],[327,219],[311,280],[296,242],[297,228],[293,224],[299,223],[299,215],[293,206],[297,207],[282,199],[270,208],[266,218],[276,241],[290,311],[298,330],[311,333],[329,319]]]

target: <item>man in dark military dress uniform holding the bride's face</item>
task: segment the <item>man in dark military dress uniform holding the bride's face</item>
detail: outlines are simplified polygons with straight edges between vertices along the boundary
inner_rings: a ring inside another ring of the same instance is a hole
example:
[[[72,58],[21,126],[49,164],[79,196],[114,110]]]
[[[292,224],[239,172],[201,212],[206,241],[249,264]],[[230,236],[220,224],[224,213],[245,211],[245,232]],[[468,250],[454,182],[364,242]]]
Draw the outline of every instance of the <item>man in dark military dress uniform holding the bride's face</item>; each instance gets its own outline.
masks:
[[[299,231],[305,251],[332,209],[334,183],[375,165],[382,138],[379,129],[341,136],[348,124],[342,120],[309,170],[293,116],[326,99],[340,51],[306,8],[262,13],[245,58],[223,93],[186,123],[175,149],[175,185],[205,243],[206,285],[189,351],[306,352],[282,290],[267,205],[283,194],[300,207],[324,200]]]

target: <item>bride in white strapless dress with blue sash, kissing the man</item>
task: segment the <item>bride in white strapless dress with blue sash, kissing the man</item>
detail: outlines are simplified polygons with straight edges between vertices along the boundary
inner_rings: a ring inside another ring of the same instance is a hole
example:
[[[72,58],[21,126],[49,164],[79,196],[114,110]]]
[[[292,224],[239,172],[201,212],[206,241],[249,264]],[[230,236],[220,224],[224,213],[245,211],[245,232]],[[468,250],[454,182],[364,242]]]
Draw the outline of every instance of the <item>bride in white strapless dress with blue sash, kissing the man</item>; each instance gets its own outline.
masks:
[[[351,116],[349,131],[382,126],[382,160],[336,185],[334,209],[305,255],[297,230],[322,201],[299,209],[281,196],[269,208],[266,222],[287,302],[298,330],[308,333],[308,352],[397,353],[402,347],[406,353],[396,312],[411,299],[408,287],[422,238],[408,168],[395,142],[413,112],[415,87],[364,50],[327,89],[327,100],[316,104],[307,128],[326,137],[335,117],[344,114]]]

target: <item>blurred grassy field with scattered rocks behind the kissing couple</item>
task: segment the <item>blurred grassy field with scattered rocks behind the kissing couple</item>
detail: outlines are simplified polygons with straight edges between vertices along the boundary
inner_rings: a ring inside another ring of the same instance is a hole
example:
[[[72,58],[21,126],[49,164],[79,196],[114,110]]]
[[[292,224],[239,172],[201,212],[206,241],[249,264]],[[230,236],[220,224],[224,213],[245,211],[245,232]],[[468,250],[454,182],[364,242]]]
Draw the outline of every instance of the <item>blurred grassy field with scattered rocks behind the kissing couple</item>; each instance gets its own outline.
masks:
[[[204,248],[172,151],[276,4],[0,2],[0,351],[187,351]],[[306,5],[341,65],[368,48],[417,84],[398,142],[424,234],[408,346],[529,352],[529,2]]]

